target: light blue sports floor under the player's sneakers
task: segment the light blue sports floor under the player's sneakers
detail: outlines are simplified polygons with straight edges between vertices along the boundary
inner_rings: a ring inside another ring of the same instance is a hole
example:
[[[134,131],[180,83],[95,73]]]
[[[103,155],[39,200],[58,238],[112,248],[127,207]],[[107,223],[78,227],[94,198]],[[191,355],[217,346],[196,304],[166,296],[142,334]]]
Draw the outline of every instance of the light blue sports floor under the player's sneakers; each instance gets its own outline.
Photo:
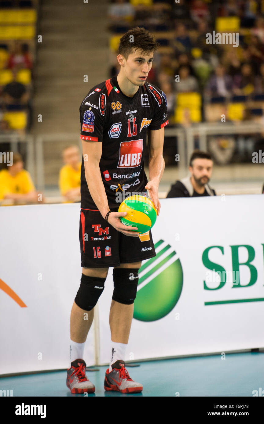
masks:
[[[107,366],[87,371],[95,385],[88,396],[253,396],[264,389],[264,353],[234,353],[138,362],[127,366],[130,377],[143,384],[143,392],[123,394],[104,391]],[[127,364],[129,365],[129,364]],[[71,394],[66,371],[0,378],[0,390],[13,390],[13,396],[84,396]],[[179,394],[176,394],[179,393]]]

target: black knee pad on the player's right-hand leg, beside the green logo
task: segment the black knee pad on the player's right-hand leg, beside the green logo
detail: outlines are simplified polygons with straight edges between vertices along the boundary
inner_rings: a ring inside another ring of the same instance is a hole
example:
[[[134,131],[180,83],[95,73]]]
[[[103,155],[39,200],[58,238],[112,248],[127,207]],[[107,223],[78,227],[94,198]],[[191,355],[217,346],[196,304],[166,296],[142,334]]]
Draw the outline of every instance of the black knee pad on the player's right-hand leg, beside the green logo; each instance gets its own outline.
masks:
[[[131,305],[137,296],[139,268],[114,268],[114,292],[112,299]]]

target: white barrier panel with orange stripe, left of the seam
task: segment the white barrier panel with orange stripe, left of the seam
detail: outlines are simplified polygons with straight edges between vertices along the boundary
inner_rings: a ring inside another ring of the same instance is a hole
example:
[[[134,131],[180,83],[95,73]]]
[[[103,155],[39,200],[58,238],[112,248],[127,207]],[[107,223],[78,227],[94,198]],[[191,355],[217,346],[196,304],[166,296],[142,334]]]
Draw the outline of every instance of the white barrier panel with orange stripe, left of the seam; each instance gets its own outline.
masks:
[[[0,208],[0,374],[68,367],[79,216],[80,204]],[[93,326],[84,353],[94,364]]]

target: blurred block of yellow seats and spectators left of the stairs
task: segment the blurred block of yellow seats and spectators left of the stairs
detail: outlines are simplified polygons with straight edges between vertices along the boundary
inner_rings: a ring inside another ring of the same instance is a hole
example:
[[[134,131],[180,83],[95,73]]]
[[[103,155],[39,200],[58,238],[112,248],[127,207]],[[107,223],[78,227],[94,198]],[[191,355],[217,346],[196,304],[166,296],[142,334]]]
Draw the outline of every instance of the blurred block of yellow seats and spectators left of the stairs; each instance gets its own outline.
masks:
[[[0,133],[25,134],[32,121],[37,1],[0,1]]]

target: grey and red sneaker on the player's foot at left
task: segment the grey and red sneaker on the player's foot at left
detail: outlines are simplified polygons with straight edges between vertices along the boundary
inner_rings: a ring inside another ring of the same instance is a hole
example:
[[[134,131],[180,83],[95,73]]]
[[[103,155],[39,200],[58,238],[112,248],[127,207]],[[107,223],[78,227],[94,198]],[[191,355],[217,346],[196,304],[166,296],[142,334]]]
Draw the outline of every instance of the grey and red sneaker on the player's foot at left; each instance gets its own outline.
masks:
[[[71,393],[93,393],[95,385],[86,378],[84,360],[76,359],[70,365],[71,367],[67,369],[66,384]]]

